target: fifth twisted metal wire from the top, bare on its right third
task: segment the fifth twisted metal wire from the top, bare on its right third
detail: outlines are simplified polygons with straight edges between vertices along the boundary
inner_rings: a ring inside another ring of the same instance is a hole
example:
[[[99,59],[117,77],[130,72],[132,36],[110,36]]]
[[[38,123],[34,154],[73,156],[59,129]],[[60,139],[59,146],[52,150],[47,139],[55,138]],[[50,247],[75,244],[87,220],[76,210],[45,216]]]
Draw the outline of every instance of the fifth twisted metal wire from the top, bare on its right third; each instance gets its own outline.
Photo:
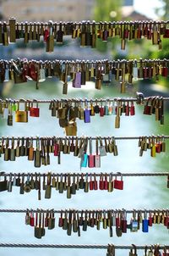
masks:
[[[101,173],[77,173],[74,171],[74,173],[56,173],[56,172],[48,172],[50,173],[52,176],[62,176],[62,175],[69,175],[69,176],[80,176],[80,175],[88,175],[89,177],[90,176],[95,176],[95,177],[100,177],[101,175],[112,175],[112,176],[123,176],[123,177],[134,177],[134,176],[168,176],[169,175],[169,172],[155,172],[155,173],[151,173],[151,172],[139,172],[139,173],[122,173],[122,172],[117,172],[117,173],[113,173],[113,172],[109,172],[109,173],[106,173],[106,172],[101,172]],[[38,176],[41,176],[41,177],[44,177],[48,175],[48,173],[31,173],[31,172],[10,172],[10,173],[4,173],[3,170],[0,171],[0,176],[2,177],[8,177],[8,176],[11,176],[11,177],[14,177],[14,176],[28,176],[28,175],[31,175],[33,177],[35,177],[36,175]]]

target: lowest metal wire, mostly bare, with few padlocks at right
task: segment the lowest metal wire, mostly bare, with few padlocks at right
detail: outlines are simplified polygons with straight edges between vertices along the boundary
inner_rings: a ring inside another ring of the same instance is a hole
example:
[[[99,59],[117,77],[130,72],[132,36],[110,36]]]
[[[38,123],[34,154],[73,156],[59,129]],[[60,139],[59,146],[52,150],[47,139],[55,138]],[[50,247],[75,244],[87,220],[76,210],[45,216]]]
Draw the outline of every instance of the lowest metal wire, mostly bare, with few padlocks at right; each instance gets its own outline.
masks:
[[[112,244],[110,244],[112,245]],[[154,249],[156,245],[112,245],[115,249],[130,250],[134,246],[138,250]],[[37,244],[37,243],[0,243],[1,248],[69,248],[69,249],[107,249],[108,245],[101,244]],[[159,249],[169,248],[169,245],[159,245]]]

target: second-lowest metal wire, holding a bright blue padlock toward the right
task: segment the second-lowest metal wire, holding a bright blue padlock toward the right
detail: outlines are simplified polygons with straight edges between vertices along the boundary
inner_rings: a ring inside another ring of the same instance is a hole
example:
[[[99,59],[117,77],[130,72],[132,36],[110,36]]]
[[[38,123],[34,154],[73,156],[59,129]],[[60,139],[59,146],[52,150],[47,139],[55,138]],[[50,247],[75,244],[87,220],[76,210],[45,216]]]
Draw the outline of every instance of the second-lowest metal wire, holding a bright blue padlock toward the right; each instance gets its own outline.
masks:
[[[27,211],[33,211],[34,213],[46,213],[49,209],[0,209],[0,213],[6,213],[6,214],[22,214],[22,213],[27,213]],[[107,212],[112,212],[112,213],[119,213],[119,212],[125,212],[126,214],[134,214],[134,213],[164,213],[164,212],[168,212],[169,209],[70,209],[73,210],[75,213],[90,213],[92,212],[96,212],[96,211],[102,211],[104,213]],[[64,213],[65,211],[69,211],[69,209],[52,209],[52,212],[54,214],[61,214]]]

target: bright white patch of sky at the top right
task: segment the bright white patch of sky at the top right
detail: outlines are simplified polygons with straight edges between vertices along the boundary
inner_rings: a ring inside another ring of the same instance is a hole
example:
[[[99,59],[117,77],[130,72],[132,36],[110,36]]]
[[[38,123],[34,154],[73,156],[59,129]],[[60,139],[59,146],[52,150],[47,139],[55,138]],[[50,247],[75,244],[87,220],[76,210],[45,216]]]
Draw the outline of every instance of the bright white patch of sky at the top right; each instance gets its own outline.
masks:
[[[155,8],[161,7],[159,0],[134,0],[134,8],[141,14],[145,14],[150,19],[157,19]]]

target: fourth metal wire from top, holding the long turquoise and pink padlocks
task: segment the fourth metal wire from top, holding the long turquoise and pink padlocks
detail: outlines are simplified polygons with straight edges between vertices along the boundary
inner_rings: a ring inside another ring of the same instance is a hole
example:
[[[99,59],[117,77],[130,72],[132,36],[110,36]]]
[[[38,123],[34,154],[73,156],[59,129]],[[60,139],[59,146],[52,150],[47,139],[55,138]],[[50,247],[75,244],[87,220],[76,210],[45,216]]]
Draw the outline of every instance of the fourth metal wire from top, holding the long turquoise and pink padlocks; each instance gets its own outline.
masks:
[[[104,140],[104,139],[106,139],[106,140],[108,140],[108,139],[110,139],[110,138],[112,138],[112,139],[114,139],[114,140],[139,140],[141,137],[147,137],[147,138],[154,138],[154,139],[158,139],[158,138],[162,138],[162,139],[169,139],[169,135],[157,135],[157,136],[154,136],[154,135],[151,135],[151,136],[147,136],[147,135],[144,135],[144,136],[95,136],[95,137],[93,137],[93,136],[64,136],[64,137],[57,137],[57,136],[36,136],[36,137],[29,137],[29,136],[17,136],[17,137],[15,137],[15,136],[12,136],[12,137],[10,137],[10,136],[3,136],[3,137],[0,137],[0,141],[2,141],[2,140],[6,140],[6,139],[8,139],[9,141],[11,141],[11,140],[14,140],[14,141],[17,141],[17,140],[21,140],[21,139],[31,139],[31,140],[33,140],[33,141],[36,141],[36,140],[40,140],[41,138],[47,138],[47,139],[53,139],[53,138],[56,138],[56,139],[62,139],[62,140],[65,140],[65,139],[72,139],[72,138],[74,138],[74,139],[78,139],[78,140],[81,140],[81,139],[84,139],[84,138],[88,138],[88,139],[91,139],[92,141],[95,141],[95,140],[97,140],[97,139],[100,139],[101,138],[101,140]]]

